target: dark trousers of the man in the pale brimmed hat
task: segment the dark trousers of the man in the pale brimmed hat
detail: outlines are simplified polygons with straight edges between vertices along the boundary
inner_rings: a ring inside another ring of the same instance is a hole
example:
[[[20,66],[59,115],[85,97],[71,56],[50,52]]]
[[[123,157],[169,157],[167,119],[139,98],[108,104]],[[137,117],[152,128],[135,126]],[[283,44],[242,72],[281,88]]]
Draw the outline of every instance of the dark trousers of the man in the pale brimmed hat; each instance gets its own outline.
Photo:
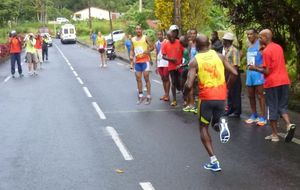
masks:
[[[232,87],[228,89],[228,114],[237,114],[242,113],[242,80],[241,75],[239,74],[234,81]]]

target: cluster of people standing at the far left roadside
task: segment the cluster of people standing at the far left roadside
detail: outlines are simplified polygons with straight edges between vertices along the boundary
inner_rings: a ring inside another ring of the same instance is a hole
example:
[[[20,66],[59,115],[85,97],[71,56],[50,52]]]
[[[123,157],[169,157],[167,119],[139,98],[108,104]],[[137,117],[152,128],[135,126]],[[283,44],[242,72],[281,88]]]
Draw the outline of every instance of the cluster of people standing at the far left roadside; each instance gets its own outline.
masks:
[[[22,42],[16,31],[11,31],[9,37],[10,58],[11,58],[11,75],[15,78],[15,64],[18,66],[19,77],[23,77],[21,65],[21,52],[23,45],[25,47],[25,61],[28,63],[28,74],[37,75],[37,70],[42,69],[44,60],[48,60],[48,37],[41,36],[39,33],[35,36],[29,33]]]

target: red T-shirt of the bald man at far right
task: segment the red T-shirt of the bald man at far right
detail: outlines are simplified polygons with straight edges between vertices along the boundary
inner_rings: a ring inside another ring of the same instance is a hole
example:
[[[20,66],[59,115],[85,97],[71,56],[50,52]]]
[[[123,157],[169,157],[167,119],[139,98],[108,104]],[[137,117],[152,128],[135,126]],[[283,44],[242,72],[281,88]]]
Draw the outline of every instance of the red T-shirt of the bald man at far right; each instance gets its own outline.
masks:
[[[272,42],[263,51],[263,67],[269,68],[265,76],[264,88],[289,85],[290,79],[285,67],[283,50],[280,45]]]

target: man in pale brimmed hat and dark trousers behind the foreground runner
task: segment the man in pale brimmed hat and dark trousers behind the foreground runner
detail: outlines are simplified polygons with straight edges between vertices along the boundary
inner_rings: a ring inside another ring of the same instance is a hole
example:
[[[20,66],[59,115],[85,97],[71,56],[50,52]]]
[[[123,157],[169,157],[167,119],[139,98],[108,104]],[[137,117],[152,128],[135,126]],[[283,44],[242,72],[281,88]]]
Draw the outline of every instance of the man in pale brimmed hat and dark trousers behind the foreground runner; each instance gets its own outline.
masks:
[[[234,36],[232,33],[225,33],[223,37],[224,48],[222,54],[225,56],[225,60],[238,71],[240,66],[240,54],[239,50],[233,46],[233,40]],[[240,74],[233,76],[226,73],[226,81],[228,87],[228,110],[226,115],[229,117],[239,118],[242,112],[241,76]]]

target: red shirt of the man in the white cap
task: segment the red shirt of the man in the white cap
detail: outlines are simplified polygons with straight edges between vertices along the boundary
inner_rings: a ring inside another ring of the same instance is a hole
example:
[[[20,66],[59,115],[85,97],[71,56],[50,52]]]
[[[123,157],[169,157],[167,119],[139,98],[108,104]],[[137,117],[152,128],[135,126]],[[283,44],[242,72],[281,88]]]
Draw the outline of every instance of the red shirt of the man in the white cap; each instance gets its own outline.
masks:
[[[162,46],[162,54],[168,58],[176,58],[176,63],[169,61],[168,70],[176,70],[176,67],[182,63],[184,47],[180,44],[179,40],[174,43],[167,41]]]

